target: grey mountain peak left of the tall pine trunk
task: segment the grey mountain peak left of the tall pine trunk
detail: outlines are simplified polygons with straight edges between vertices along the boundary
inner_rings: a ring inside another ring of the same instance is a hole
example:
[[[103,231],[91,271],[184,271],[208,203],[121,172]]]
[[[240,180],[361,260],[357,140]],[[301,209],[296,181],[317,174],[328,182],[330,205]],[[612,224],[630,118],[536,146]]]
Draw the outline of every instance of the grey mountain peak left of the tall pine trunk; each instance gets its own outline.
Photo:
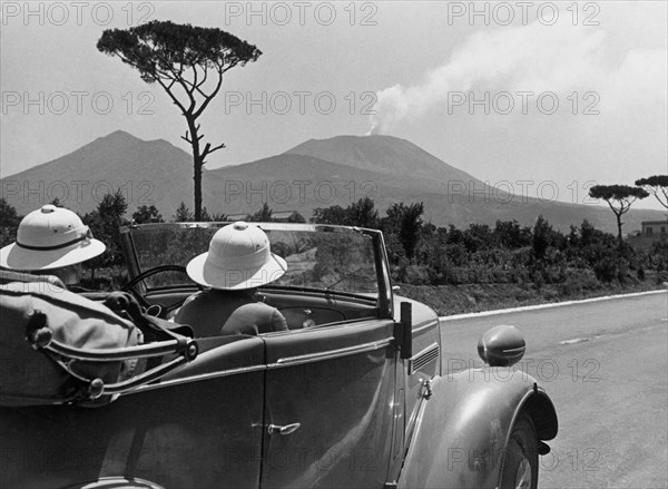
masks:
[[[145,141],[117,130],[1,182],[3,196],[19,214],[55,197],[72,211],[86,213],[118,188],[130,213],[151,204],[171,209],[175,201],[178,205],[191,198],[193,164],[187,153],[163,139]]]

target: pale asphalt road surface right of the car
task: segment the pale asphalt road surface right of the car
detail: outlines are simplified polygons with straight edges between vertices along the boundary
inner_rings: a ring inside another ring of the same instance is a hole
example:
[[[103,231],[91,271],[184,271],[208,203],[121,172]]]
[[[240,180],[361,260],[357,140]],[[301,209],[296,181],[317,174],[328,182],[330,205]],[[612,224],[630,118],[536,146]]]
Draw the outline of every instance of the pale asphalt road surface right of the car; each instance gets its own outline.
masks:
[[[523,333],[518,369],[557,407],[539,488],[668,487],[667,293],[443,321],[444,365],[481,364],[478,339],[498,324]]]

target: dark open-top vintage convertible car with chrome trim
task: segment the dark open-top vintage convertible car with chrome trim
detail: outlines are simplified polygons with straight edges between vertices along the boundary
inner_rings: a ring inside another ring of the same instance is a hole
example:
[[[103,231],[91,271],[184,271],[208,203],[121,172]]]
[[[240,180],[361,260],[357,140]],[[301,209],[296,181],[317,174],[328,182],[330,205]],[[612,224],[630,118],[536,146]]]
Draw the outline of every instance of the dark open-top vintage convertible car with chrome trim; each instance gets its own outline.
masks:
[[[39,324],[20,341],[65,369],[87,362],[76,374],[87,389],[0,404],[0,487],[537,487],[558,422],[537,381],[513,374],[521,334],[498,326],[471,339],[480,369],[503,374],[446,372],[448,331],[396,294],[377,231],[258,224],[288,270],[257,293],[288,331],[204,338],[170,323],[198,291],[185,265],[225,224],[121,229],[126,290],[171,336],[143,331],[137,344],[86,351],[51,341],[31,312]],[[90,368],[130,358],[141,368],[122,381]]]

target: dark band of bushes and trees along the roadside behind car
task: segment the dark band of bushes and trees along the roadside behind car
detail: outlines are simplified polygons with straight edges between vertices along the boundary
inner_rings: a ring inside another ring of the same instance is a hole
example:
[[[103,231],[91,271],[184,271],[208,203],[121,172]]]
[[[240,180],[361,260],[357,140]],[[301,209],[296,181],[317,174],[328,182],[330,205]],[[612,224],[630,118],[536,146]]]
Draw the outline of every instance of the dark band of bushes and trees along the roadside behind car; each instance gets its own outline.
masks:
[[[533,226],[498,221],[494,226],[471,224],[466,228],[436,227],[422,219],[424,205],[394,204],[380,216],[370,198],[347,207],[316,208],[311,222],[382,229],[392,280],[400,294],[422,301],[439,314],[458,314],[517,305],[582,299],[609,293],[651,290],[668,282],[668,242],[656,241],[648,250],[636,250],[583,221],[569,233],[554,229],[542,216]],[[118,226],[127,224],[127,203],[120,192],[107,195],[84,216],[108,252],[85,263],[85,283],[90,288],[118,288],[127,280],[118,243]],[[206,221],[226,221],[225,215]],[[138,223],[160,222],[155,207],[132,214]],[[171,221],[191,221],[181,203]],[[273,221],[264,205],[247,221]],[[304,222],[299,214],[291,221]],[[11,243],[20,216],[0,199],[0,245]]]

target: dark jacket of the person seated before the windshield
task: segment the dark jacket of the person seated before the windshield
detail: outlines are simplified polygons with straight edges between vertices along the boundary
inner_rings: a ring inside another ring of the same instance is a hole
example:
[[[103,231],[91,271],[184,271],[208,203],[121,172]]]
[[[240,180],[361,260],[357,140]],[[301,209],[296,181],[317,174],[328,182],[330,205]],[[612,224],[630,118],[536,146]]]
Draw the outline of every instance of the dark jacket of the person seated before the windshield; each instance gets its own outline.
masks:
[[[199,292],[186,300],[175,321],[190,325],[197,338],[286,331],[283,314],[257,302],[254,293],[254,290]]]

